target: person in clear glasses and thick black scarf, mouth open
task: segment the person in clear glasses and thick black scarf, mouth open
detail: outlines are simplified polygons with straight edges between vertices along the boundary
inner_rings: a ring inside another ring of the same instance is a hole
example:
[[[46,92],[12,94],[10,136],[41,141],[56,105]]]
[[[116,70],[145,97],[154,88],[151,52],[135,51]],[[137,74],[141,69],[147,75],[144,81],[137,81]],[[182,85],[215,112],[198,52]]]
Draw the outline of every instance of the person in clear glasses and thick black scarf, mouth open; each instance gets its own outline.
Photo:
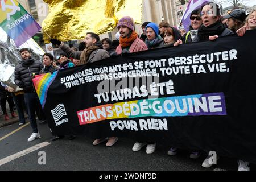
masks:
[[[192,42],[214,40],[220,36],[233,34],[231,30],[221,23],[220,7],[213,2],[202,6],[200,16],[203,21]]]

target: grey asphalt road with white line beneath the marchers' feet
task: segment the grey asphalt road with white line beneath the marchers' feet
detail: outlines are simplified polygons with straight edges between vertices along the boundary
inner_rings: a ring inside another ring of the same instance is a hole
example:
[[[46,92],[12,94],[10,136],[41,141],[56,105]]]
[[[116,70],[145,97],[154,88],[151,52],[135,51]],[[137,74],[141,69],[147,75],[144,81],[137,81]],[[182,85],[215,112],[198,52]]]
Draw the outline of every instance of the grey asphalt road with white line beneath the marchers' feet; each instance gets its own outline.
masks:
[[[112,147],[106,147],[105,143],[93,146],[93,140],[77,136],[74,140],[68,137],[51,141],[52,135],[47,124],[38,124],[42,138],[33,142],[27,142],[31,135],[30,125],[20,126],[17,123],[0,128],[0,170],[35,170],[35,171],[60,171],[60,170],[82,170],[82,171],[236,171],[237,159],[220,158],[217,165],[210,168],[201,167],[206,154],[199,159],[189,159],[189,152],[180,151],[175,156],[167,155],[166,146],[157,145],[154,154],[146,154],[146,147],[134,152],[131,150],[134,141],[127,138],[119,138]],[[15,133],[7,134],[19,129]],[[37,144],[49,142],[45,147],[28,152],[8,163],[1,164],[2,159],[9,159],[9,156],[26,150]],[[39,164],[39,151],[46,154],[46,164]],[[255,165],[251,164],[251,170]]]

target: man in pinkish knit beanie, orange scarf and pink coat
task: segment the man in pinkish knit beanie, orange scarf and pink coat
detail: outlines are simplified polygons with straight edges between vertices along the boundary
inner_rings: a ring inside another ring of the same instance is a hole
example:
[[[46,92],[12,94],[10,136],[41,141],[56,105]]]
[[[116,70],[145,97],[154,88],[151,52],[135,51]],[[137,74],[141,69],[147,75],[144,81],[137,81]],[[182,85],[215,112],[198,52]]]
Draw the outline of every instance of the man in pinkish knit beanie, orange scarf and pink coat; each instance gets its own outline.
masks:
[[[138,34],[134,30],[134,21],[130,16],[124,16],[117,24],[120,34],[119,46],[115,50],[117,54],[146,51],[146,44],[138,38]]]

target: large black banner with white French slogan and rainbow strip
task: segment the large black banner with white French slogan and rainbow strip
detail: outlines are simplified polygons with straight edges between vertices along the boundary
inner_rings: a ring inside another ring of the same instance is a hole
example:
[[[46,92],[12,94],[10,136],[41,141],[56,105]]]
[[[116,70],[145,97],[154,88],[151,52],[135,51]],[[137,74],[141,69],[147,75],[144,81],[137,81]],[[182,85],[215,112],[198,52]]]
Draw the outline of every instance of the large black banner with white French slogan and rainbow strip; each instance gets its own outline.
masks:
[[[60,135],[129,137],[256,163],[255,33],[55,72],[38,86],[49,127]]]

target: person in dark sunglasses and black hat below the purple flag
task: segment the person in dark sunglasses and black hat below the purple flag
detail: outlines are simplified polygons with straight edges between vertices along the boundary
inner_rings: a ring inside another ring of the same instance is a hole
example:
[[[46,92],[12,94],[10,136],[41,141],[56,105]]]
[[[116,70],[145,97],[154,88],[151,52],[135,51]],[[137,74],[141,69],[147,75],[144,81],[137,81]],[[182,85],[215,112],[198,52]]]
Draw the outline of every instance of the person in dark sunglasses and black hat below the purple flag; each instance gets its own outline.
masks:
[[[181,39],[185,44],[191,43],[193,41],[193,39],[197,34],[198,29],[201,27],[203,23],[199,15],[201,12],[200,10],[201,9],[199,8],[191,12],[191,15],[190,15],[191,25],[189,26],[189,31]]]

